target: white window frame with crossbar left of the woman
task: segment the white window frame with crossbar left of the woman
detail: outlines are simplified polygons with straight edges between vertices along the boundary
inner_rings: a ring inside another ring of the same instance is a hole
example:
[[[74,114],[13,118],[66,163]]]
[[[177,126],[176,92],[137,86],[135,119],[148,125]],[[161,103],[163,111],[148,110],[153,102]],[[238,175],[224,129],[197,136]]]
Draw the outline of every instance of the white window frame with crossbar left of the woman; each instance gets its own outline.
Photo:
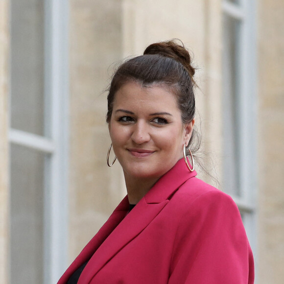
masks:
[[[45,136],[10,128],[9,142],[46,153],[44,284],[57,283],[68,257],[69,2],[45,0]]]

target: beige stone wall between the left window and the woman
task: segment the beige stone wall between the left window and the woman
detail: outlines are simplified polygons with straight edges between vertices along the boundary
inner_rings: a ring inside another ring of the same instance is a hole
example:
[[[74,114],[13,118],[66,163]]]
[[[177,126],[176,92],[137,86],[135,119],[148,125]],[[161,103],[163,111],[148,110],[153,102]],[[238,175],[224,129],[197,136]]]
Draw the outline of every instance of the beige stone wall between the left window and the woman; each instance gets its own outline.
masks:
[[[124,193],[118,163],[106,165],[108,68],[122,58],[121,2],[70,1],[70,261]],[[111,69],[110,69],[111,72]]]

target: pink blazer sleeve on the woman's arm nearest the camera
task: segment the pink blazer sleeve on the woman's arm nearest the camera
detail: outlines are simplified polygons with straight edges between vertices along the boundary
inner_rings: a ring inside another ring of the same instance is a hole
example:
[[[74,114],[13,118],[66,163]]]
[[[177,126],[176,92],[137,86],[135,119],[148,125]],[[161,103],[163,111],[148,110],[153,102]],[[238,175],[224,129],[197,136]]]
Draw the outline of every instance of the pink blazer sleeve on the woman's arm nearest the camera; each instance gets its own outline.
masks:
[[[253,284],[254,260],[233,199],[213,190],[195,199],[178,226],[168,284]]]

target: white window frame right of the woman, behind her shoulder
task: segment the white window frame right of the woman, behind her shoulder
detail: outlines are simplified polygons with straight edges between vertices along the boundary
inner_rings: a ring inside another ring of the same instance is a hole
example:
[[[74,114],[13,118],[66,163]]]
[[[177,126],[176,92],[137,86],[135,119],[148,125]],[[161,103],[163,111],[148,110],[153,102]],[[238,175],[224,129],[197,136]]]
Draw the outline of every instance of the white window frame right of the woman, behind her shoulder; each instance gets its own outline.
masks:
[[[257,61],[256,61],[256,1],[239,0],[234,4],[223,0],[223,13],[241,21],[238,98],[240,103],[240,197],[233,196],[241,213],[254,257],[257,258]],[[226,82],[223,80],[224,89]],[[226,133],[224,133],[226,141]]]

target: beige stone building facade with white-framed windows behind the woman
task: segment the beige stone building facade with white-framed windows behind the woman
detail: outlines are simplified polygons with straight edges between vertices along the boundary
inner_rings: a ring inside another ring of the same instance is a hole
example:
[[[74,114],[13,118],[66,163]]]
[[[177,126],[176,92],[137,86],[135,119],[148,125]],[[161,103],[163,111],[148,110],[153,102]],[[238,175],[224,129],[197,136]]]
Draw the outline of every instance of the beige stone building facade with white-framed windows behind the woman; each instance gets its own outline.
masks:
[[[284,278],[281,0],[0,0],[0,278],[56,283],[126,194],[106,165],[110,77],[181,39],[194,54],[198,176],[241,212],[256,283]]]

